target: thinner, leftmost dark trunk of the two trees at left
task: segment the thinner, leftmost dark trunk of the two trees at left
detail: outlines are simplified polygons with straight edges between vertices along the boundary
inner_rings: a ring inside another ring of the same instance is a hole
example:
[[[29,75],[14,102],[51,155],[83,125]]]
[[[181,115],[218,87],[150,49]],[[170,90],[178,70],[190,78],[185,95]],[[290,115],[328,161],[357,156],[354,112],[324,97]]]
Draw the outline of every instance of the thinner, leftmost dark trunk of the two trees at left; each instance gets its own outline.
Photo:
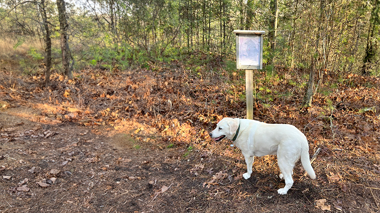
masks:
[[[47,23],[46,5],[45,0],[41,0],[40,12],[45,28],[45,86],[50,84],[50,70],[51,70],[51,38],[49,25]]]

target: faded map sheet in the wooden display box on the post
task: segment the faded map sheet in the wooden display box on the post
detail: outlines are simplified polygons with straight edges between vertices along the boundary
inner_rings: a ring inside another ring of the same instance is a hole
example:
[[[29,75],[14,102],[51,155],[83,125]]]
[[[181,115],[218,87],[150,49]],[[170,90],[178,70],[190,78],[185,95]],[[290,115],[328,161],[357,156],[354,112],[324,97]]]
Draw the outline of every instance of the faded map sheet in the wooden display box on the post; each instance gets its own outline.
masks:
[[[260,66],[260,36],[239,35],[239,65]]]

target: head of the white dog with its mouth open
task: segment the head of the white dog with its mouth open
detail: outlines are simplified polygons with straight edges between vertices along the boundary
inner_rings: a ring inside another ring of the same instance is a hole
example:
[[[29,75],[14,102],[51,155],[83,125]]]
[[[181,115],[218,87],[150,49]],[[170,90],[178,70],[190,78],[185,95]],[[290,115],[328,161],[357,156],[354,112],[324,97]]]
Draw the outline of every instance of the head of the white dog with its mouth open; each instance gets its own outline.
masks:
[[[221,141],[223,138],[233,139],[239,127],[239,118],[225,117],[218,122],[216,128],[209,135],[214,141]]]

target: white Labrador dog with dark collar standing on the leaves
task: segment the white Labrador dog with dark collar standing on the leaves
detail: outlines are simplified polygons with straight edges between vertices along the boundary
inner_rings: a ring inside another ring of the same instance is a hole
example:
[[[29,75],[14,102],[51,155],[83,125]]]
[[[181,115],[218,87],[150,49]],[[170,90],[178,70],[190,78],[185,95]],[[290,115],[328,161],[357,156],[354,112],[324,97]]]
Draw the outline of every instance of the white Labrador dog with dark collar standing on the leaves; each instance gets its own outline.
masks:
[[[243,174],[245,179],[251,177],[254,156],[277,155],[277,163],[282,172],[280,178],[285,179],[285,187],[277,190],[279,194],[286,194],[293,185],[291,175],[300,157],[306,172],[315,179],[306,136],[293,125],[226,117],[218,122],[210,136],[214,141],[228,138],[241,149],[247,163],[247,173]]]

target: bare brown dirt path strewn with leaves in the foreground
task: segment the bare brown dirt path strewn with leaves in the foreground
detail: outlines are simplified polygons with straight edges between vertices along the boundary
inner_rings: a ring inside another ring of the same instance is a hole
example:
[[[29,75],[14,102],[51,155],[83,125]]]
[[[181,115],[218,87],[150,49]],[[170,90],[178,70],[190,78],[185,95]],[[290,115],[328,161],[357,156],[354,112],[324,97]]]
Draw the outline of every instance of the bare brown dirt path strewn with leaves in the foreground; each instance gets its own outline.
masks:
[[[180,147],[150,143],[136,149],[130,133],[42,117],[23,107],[0,112],[1,174],[11,176],[0,182],[2,213],[310,212],[323,197],[321,180],[297,181],[299,168],[293,189],[280,196],[283,183],[271,171],[241,179],[241,160],[199,150],[184,158]]]

